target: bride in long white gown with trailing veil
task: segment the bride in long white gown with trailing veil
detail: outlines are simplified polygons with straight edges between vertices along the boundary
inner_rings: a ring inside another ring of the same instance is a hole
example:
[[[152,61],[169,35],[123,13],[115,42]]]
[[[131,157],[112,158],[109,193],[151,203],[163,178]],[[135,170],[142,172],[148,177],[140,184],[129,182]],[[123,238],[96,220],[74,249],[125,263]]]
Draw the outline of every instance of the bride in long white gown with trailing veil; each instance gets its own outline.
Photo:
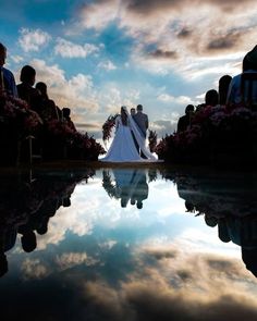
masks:
[[[133,134],[134,137],[133,137]],[[140,151],[146,159],[142,158],[135,146],[138,144]],[[157,162],[158,159],[149,151],[145,145],[137,124],[127,112],[126,107],[121,108],[121,114],[115,119],[115,135],[102,162]]]

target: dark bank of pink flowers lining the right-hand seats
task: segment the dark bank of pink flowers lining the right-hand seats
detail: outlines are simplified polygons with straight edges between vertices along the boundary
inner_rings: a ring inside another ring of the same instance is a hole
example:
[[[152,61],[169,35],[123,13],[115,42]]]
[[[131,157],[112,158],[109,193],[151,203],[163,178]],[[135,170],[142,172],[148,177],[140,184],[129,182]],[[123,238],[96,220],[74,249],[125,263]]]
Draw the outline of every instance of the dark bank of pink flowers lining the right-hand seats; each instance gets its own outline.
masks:
[[[205,107],[195,112],[186,131],[167,135],[155,151],[160,159],[184,163],[210,163],[231,152],[254,161],[256,138],[257,112],[244,106]]]

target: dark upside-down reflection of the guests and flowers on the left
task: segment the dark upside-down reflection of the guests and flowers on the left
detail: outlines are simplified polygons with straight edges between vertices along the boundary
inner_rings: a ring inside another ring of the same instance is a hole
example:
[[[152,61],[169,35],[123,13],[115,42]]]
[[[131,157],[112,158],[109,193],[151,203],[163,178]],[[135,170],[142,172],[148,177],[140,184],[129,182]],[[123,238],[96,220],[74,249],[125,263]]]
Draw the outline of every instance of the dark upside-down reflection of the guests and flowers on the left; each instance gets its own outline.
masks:
[[[0,276],[8,270],[8,252],[21,240],[23,251],[37,247],[37,236],[48,232],[49,220],[60,207],[71,206],[71,195],[76,184],[95,174],[88,170],[45,174],[7,176],[0,186]]]

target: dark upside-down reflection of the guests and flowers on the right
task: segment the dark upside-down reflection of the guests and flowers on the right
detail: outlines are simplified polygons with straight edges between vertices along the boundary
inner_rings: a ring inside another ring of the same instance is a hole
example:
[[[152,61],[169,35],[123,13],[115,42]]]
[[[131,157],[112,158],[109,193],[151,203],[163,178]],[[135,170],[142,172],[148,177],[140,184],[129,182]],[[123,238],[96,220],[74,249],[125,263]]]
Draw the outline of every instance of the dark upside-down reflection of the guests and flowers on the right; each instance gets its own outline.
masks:
[[[242,249],[245,267],[257,277],[257,198],[256,180],[245,175],[176,174],[178,194],[186,212],[203,215],[205,223],[218,229],[223,243]]]

